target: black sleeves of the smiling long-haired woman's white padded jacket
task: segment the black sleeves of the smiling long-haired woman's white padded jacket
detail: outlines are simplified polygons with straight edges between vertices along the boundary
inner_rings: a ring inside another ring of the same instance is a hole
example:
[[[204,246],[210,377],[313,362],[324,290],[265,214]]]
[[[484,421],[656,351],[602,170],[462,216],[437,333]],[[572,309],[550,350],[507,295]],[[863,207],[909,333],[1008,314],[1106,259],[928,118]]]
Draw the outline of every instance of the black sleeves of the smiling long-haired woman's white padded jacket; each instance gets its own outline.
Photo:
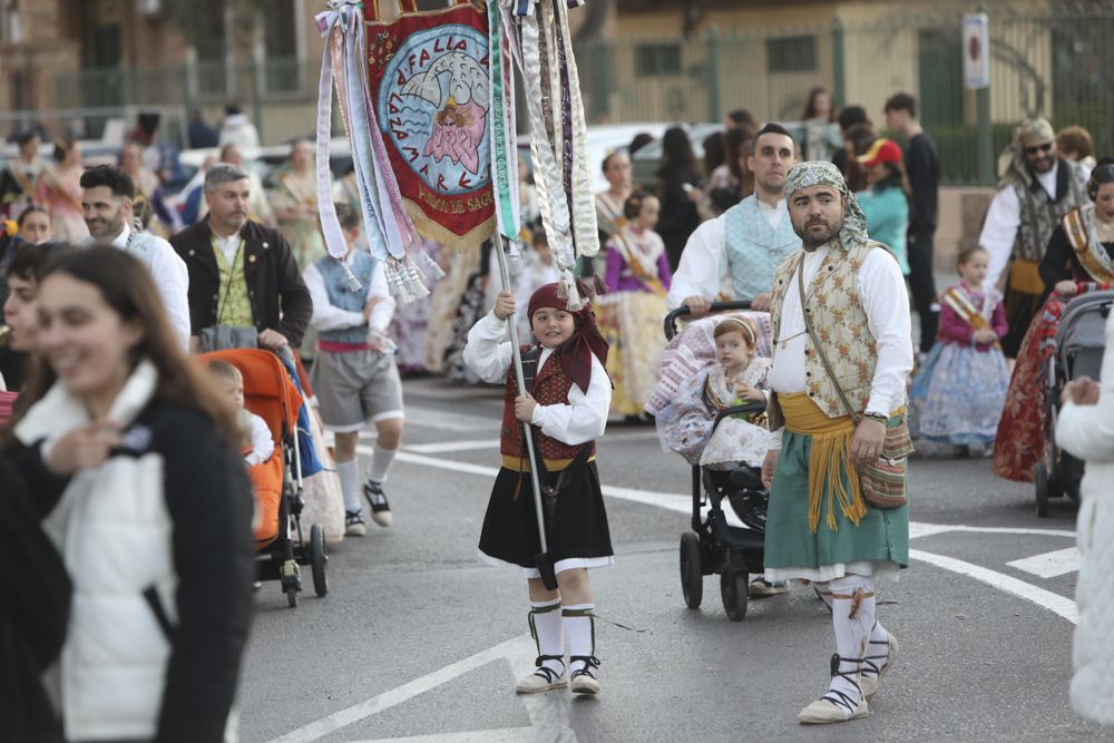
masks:
[[[129,437],[143,429],[149,433]],[[146,441],[134,444],[138,449],[114,449],[104,466],[117,458],[159,456],[160,495],[173,522],[178,620],[163,626],[170,657],[155,741],[218,743],[235,696],[252,615],[255,559],[247,471],[238,451],[222,440],[208,418],[175,403],[153,400],[123,438]],[[8,453],[36,493],[37,517],[46,517],[69,480],[46,468],[38,442],[17,441]],[[12,577],[28,579],[19,574],[12,571]],[[156,619],[163,624],[157,614]],[[6,707],[7,703],[0,705]]]

